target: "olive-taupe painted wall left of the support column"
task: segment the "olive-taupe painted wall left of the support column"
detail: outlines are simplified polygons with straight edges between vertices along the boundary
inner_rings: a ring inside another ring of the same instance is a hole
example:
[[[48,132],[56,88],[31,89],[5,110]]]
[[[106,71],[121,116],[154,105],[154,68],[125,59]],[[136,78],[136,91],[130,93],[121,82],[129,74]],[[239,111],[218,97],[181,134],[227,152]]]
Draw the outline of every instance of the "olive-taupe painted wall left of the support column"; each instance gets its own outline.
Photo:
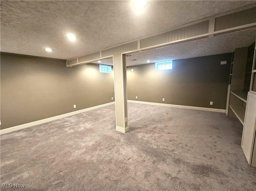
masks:
[[[112,102],[113,73],[99,66],[1,53],[1,129]],[[76,104],[76,108],[73,105]]]

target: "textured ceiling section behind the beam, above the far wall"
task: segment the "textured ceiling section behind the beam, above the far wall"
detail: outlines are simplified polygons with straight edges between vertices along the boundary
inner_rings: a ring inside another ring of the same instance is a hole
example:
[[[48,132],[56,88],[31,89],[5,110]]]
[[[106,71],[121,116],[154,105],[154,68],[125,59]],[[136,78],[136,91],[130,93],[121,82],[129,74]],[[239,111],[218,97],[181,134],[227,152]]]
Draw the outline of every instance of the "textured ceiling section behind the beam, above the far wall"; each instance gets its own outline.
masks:
[[[150,63],[186,59],[193,57],[201,57],[208,55],[216,55],[223,53],[230,53],[235,48],[248,47],[256,38],[256,29],[244,30],[239,32],[232,32],[214,37],[184,42],[180,44],[142,51],[130,54],[126,57],[126,65],[140,65]],[[135,61],[133,61],[135,59]],[[97,62],[94,62],[97,64]],[[113,65],[113,59],[102,60],[104,65]]]

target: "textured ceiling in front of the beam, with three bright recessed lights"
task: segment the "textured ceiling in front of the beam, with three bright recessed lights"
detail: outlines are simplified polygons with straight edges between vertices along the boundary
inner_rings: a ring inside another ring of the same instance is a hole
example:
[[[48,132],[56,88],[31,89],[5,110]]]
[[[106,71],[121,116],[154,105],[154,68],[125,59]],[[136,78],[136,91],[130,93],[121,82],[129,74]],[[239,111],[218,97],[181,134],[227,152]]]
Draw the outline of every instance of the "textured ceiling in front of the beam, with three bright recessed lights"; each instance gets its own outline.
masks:
[[[148,1],[138,12],[131,1],[1,0],[1,51],[69,59],[252,3]]]

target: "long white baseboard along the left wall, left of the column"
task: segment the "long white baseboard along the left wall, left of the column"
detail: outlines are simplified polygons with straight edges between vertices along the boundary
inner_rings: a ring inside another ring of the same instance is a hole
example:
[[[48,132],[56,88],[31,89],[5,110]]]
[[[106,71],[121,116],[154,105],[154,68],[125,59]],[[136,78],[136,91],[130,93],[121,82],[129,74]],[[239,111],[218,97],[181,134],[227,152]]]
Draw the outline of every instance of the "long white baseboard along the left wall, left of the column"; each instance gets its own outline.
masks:
[[[50,122],[50,121],[53,121],[53,120],[57,120],[57,119],[60,119],[60,118],[80,114],[80,113],[90,111],[90,110],[93,110],[93,109],[97,109],[97,108],[101,108],[101,107],[104,107],[104,106],[112,105],[114,103],[115,102],[110,102],[110,103],[106,103],[106,104],[102,104],[102,105],[97,105],[97,106],[94,106],[94,107],[89,107],[89,108],[73,111],[73,112],[70,112],[70,113],[65,113],[65,114],[54,116],[54,117],[49,117],[49,118],[46,118],[46,119],[33,121],[33,122],[30,122],[30,123],[26,123],[26,124],[22,124],[22,125],[10,127],[10,128],[2,129],[2,130],[0,130],[0,135],[10,133],[10,132],[13,132],[13,131],[17,131],[17,130],[20,130],[20,129],[32,127],[32,126],[35,126],[35,125],[43,124],[43,123]]]

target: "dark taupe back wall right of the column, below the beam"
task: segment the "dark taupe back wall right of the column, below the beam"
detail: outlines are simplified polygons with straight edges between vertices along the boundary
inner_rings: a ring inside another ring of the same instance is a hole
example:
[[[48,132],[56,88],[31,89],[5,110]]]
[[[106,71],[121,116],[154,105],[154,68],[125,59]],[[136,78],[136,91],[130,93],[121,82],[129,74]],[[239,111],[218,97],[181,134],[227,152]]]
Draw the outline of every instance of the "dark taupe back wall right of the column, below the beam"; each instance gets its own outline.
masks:
[[[128,100],[225,109],[231,57],[226,53],[174,60],[172,70],[162,71],[154,63],[127,67]]]

